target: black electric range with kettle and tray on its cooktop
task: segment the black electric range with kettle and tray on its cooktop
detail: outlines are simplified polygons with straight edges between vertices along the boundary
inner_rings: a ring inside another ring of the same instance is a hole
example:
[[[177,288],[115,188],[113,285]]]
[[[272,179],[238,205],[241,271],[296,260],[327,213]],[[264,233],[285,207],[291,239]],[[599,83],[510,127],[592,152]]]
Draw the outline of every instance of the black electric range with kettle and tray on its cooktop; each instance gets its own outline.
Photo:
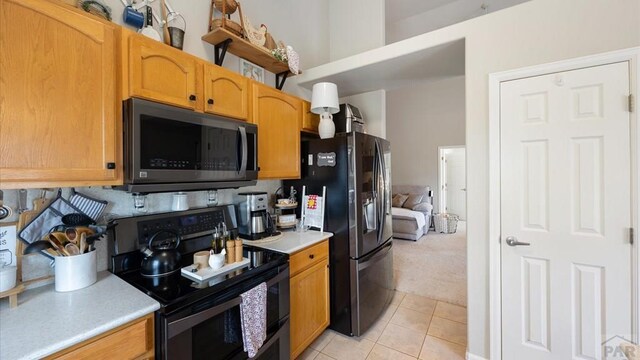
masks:
[[[246,359],[242,339],[230,338],[240,329],[240,295],[267,285],[267,340],[256,359],[289,358],[289,257],[244,246],[245,257],[261,252],[260,264],[250,263],[232,273],[204,281],[181,275],[147,277],[140,273],[140,251],[159,231],[181,237],[181,267],[193,263],[193,254],[211,247],[212,229],[224,222],[237,228],[233,205],[112,220],[108,238],[109,270],[160,303],[155,313],[156,358]],[[216,336],[217,334],[217,336]],[[216,354],[211,356],[211,354]]]

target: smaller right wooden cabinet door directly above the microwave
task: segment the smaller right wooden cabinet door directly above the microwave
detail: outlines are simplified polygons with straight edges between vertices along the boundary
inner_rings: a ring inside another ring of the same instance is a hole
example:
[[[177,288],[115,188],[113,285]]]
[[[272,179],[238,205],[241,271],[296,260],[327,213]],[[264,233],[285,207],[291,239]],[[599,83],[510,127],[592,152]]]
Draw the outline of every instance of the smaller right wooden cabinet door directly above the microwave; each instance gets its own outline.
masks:
[[[248,78],[220,66],[205,65],[205,112],[247,120],[249,90]]]

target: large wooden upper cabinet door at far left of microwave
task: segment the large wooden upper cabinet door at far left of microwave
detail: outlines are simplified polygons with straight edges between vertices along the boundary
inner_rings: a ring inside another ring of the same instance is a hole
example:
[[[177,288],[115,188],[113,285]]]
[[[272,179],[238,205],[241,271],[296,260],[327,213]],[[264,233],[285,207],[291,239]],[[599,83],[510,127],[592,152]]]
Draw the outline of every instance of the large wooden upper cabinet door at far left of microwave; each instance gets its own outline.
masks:
[[[122,183],[116,26],[0,0],[0,186]]]

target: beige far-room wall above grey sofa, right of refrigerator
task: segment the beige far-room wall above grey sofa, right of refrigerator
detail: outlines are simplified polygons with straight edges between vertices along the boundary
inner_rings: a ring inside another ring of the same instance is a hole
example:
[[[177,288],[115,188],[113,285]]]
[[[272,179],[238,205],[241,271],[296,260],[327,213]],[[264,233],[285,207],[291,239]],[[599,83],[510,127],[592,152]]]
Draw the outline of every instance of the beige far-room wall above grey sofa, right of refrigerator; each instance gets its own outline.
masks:
[[[464,76],[387,91],[394,184],[429,185],[439,209],[438,147],[465,143]],[[437,210],[436,210],[437,211]]]

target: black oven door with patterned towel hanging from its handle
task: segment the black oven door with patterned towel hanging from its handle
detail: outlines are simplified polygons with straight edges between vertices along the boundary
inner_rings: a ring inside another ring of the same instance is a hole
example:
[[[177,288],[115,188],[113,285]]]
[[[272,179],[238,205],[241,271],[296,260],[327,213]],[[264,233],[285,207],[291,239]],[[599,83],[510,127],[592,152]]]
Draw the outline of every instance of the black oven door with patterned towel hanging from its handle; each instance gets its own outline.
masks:
[[[159,359],[247,359],[240,325],[240,294],[267,283],[267,339],[254,359],[289,359],[289,268],[273,269],[200,300],[169,316],[160,315]]]

